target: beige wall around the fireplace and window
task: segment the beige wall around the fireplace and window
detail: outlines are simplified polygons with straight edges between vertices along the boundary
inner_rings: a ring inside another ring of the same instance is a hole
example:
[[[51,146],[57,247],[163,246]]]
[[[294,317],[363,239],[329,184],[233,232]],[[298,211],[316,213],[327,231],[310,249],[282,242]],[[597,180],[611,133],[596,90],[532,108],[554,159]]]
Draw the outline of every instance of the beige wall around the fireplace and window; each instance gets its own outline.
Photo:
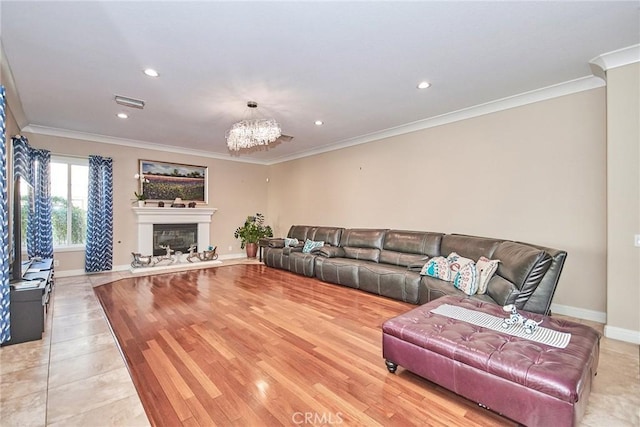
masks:
[[[221,256],[242,254],[235,229],[247,215],[266,213],[267,166],[217,160],[185,154],[167,153],[120,145],[25,133],[31,146],[52,154],[87,157],[90,154],[113,158],[113,240],[114,266],[128,265],[136,251],[136,219],[132,211],[133,192],[138,189],[134,175],[138,160],[157,160],[207,166],[209,168],[209,207],[218,208],[211,223],[211,242]],[[268,219],[268,218],[267,218]],[[229,250],[231,246],[231,250]],[[84,252],[56,252],[59,271],[84,270]]]

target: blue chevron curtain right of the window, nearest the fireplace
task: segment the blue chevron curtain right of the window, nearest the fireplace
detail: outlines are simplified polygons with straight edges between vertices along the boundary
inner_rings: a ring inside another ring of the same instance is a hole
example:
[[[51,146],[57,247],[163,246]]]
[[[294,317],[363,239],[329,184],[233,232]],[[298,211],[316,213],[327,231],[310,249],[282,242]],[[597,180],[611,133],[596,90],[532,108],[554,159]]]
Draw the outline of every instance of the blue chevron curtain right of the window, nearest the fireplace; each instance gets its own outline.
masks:
[[[113,160],[89,156],[89,206],[84,271],[113,267]]]

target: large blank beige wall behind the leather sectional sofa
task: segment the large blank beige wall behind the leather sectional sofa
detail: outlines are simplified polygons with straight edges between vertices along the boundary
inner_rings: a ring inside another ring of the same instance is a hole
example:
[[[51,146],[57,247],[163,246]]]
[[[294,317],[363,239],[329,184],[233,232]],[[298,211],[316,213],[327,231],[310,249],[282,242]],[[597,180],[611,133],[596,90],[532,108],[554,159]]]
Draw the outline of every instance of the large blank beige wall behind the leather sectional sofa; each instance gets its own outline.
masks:
[[[604,88],[271,167],[269,217],[568,252],[555,304],[606,308]]]

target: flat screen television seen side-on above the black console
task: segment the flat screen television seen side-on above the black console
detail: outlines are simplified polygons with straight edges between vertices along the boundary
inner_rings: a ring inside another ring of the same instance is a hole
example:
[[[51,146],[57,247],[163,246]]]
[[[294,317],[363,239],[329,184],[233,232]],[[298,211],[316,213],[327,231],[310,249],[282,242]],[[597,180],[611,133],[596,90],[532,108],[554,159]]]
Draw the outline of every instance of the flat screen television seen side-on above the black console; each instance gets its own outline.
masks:
[[[11,281],[20,281],[22,276],[27,272],[31,261],[23,257],[26,247],[23,247],[24,229],[26,228],[29,213],[33,212],[34,191],[33,186],[18,175],[13,181],[13,200],[12,200],[12,254],[11,254]]]

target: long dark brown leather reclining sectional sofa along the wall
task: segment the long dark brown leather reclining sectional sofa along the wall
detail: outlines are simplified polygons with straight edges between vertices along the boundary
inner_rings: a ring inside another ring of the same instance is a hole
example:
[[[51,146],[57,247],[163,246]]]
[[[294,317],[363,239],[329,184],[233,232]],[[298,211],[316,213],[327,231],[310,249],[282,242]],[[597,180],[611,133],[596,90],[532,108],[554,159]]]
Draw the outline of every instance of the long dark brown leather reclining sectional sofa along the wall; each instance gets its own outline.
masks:
[[[451,282],[420,275],[433,257],[452,252],[474,261],[500,260],[487,292],[470,298],[549,314],[567,253],[504,239],[389,229],[347,229],[294,225],[285,239],[270,239],[265,264],[324,282],[424,304],[444,295],[465,296]],[[306,240],[324,246],[303,252]]]

